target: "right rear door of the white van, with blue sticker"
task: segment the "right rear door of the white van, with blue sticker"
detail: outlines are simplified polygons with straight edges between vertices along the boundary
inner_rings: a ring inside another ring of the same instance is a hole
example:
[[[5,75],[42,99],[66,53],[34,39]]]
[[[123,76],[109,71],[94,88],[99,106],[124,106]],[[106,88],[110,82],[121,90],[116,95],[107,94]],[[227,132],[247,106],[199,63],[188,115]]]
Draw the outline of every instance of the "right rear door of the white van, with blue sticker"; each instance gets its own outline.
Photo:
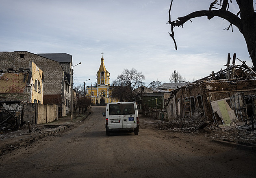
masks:
[[[121,106],[123,128],[136,128],[135,103],[122,103]]]

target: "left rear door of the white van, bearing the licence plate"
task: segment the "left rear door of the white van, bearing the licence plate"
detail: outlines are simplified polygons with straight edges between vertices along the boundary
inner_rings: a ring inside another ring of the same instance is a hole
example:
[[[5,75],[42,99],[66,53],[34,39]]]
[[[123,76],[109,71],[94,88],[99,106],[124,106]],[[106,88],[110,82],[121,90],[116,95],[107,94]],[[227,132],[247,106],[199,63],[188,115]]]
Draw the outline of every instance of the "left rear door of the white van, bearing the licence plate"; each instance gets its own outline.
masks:
[[[123,121],[121,115],[121,103],[108,104],[108,128],[121,129]]]

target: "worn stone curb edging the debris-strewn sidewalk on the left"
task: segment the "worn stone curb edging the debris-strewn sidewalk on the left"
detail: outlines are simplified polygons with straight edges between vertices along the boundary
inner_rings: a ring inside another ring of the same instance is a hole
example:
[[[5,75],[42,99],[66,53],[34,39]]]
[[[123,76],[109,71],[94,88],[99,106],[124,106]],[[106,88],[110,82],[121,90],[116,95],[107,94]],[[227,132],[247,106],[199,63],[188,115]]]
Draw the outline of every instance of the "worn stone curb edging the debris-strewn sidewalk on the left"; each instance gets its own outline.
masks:
[[[0,148],[0,156],[3,155],[4,152],[6,152],[6,150],[7,151],[8,150],[14,150],[15,148],[17,148],[19,146],[26,146],[26,144],[28,144],[30,142],[34,142],[35,140],[39,140],[43,137],[50,136],[50,135],[55,134],[57,132],[63,131],[65,129],[67,129],[67,126],[61,126],[61,127],[54,128],[52,130],[45,131],[45,133],[38,133],[38,134],[33,135],[30,138],[27,138],[27,139],[24,139],[24,140],[22,139],[22,140],[20,140],[20,142],[13,142],[11,144],[5,144],[4,147]]]

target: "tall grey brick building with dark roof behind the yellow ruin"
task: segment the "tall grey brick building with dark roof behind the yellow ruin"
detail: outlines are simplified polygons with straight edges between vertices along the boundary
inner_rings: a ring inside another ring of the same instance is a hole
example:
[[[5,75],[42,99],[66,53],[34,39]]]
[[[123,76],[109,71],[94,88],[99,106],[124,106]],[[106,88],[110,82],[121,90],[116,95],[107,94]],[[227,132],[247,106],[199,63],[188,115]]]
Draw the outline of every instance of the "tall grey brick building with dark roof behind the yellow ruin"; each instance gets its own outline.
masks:
[[[71,110],[72,55],[0,52],[0,70],[23,70],[29,68],[29,61],[33,61],[44,72],[43,99],[37,100],[37,103],[56,104],[59,117],[65,116]]]

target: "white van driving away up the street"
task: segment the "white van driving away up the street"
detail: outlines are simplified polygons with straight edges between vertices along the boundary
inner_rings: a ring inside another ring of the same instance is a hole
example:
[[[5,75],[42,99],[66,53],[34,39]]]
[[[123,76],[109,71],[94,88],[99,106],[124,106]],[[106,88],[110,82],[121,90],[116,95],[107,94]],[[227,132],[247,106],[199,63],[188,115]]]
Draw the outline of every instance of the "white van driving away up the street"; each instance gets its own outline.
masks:
[[[139,114],[136,102],[107,103],[106,113],[106,135],[111,132],[134,132],[139,134]]]

